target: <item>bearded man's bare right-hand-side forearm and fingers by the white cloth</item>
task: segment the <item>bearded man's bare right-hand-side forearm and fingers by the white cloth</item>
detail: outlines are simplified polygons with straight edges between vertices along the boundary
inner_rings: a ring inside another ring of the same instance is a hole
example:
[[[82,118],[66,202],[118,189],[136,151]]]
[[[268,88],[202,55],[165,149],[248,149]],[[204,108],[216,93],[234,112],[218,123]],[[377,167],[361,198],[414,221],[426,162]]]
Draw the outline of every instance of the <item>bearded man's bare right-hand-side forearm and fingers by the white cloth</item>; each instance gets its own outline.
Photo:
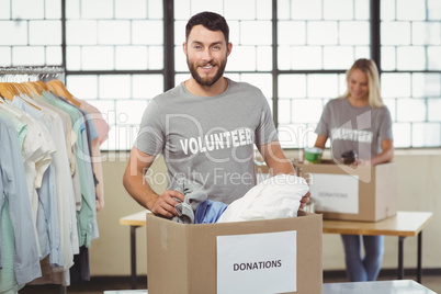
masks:
[[[285,157],[282,147],[278,139],[265,144],[257,146],[260,154],[262,155],[268,168],[270,169],[271,176],[276,174],[294,174],[295,170],[292,162]],[[301,206],[298,210],[303,210],[309,202],[310,193],[307,192],[301,200]]]

